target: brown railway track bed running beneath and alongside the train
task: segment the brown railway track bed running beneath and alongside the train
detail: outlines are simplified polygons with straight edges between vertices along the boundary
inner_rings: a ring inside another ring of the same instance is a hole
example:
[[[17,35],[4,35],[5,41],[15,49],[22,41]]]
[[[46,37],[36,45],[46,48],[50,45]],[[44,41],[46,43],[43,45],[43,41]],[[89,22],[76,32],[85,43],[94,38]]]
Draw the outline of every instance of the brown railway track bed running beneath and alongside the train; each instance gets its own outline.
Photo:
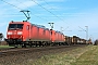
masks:
[[[0,57],[30,53],[30,52],[59,50],[64,48],[69,50],[69,49],[78,48],[78,47],[84,47],[84,44],[83,46],[75,44],[75,46],[41,47],[41,48],[10,48],[10,49],[0,50]]]

